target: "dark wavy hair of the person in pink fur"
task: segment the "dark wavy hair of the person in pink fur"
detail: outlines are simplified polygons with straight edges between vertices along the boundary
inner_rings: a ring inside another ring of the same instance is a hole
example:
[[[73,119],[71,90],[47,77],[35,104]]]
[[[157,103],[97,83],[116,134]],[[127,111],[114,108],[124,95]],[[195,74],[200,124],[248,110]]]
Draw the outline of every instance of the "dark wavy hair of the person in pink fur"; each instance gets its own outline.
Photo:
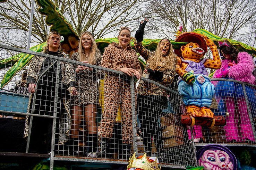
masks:
[[[223,54],[225,55],[229,55],[231,57],[231,62],[235,62],[236,64],[239,62],[238,59],[238,53],[239,50],[234,48],[234,46],[232,46],[231,44],[227,44],[227,45],[223,45],[220,47],[220,55],[222,56],[221,59],[226,59]]]

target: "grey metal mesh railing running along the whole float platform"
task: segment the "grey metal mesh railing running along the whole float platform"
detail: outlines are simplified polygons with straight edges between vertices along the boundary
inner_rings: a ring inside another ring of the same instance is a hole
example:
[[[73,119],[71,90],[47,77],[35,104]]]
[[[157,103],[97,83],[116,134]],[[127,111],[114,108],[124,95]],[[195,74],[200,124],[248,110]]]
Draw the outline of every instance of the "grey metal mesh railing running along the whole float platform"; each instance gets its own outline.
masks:
[[[162,167],[185,169],[197,166],[195,145],[256,146],[255,85],[213,79],[216,100],[211,108],[215,115],[225,115],[229,124],[224,128],[190,128],[180,124],[180,115],[185,114],[182,96],[150,79],[141,78],[138,83],[136,78],[116,70],[4,45],[0,48],[1,58],[25,53],[37,56],[33,61],[37,65],[43,63],[40,57],[47,58],[49,63],[44,64],[52,68],[47,75],[35,72],[34,78],[40,78],[33,95],[20,87],[24,70],[0,91],[1,115],[29,116],[26,152],[51,152],[51,169],[54,160],[127,164],[134,152],[157,156]],[[23,63],[27,58],[19,61],[20,66],[27,64]],[[74,74],[78,65],[92,69]],[[0,70],[2,82],[15,72],[10,68],[13,64],[6,66]],[[77,95],[67,91],[70,80],[75,81]],[[32,100],[27,113],[29,96]],[[241,129],[244,125],[239,122],[247,124],[247,129]],[[228,141],[225,130],[236,129],[234,136],[240,140]],[[199,141],[193,140],[198,136]]]

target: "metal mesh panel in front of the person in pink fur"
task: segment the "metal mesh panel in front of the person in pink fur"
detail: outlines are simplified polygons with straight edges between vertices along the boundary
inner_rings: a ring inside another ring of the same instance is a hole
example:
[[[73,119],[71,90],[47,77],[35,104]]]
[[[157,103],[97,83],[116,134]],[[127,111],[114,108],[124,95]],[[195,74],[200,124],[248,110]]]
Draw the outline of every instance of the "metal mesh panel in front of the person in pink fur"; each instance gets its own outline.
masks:
[[[211,110],[225,116],[227,124],[213,128],[195,127],[196,145],[217,143],[224,145],[255,145],[256,86],[231,79],[213,79],[215,96]]]

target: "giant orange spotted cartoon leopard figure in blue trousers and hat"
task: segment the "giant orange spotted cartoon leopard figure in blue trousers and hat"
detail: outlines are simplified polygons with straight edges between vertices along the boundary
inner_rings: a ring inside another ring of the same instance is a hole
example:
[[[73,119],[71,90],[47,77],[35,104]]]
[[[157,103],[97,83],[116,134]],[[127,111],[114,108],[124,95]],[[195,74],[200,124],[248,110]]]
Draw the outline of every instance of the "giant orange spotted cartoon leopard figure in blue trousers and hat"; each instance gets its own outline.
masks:
[[[214,114],[209,107],[215,87],[208,77],[206,68],[219,69],[221,67],[217,47],[211,39],[195,32],[184,32],[175,41],[189,42],[186,46],[175,50],[178,56],[176,72],[180,76],[177,82],[178,89],[179,93],[183,95],[183,101],[187,108],[186,114],[191,115],[192,119],[205,117],[213,120]],[[212,51],[213,59],[202,59],[207,51],[207,46]],[[191,126],[194,124],[195,120]]]

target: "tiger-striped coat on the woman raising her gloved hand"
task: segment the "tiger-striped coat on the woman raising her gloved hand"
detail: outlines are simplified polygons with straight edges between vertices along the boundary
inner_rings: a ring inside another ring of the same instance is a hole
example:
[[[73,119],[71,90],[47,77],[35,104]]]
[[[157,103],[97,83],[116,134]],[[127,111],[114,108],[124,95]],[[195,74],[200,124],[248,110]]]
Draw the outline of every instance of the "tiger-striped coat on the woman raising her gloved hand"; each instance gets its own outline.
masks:
[[[146,49],[145,47],[143,47],[142,42],[134,43],[134,47],[138,51],[140,56],[142,56],[146,61],[148,60],[148,58],[150,58],[151,56],[153,56],[155,54],[153,51],[150,51],[150,50]],[[168,85],[172,83],[174,76],[176,74],[175,65],[173,66],[172,69],[167,69],[165,67],[162,67],[163,64],[164,64],[164,62],[160,63],[155,68],[155,70],[158,70],[163,73],[163,78],[160,81],[155,80],[155,79],[153,79],[153,80],[155,82],[158,82],[158,83],[168,87]],[[145,69],[149,68],[148,66],[149,66],[149,63],[146,63]],[[145,77],[144,72],[143,72],[142,77]],[[151,76],[149,78],[152,79]],[[155,84],[152,84],[152,83],[144,82],[143,80],[140,80],[137,90],[138,90],[138,94],[140,94],[140,95],[165,96],[165,92],[164,92],[163,88],[161,88]]]

